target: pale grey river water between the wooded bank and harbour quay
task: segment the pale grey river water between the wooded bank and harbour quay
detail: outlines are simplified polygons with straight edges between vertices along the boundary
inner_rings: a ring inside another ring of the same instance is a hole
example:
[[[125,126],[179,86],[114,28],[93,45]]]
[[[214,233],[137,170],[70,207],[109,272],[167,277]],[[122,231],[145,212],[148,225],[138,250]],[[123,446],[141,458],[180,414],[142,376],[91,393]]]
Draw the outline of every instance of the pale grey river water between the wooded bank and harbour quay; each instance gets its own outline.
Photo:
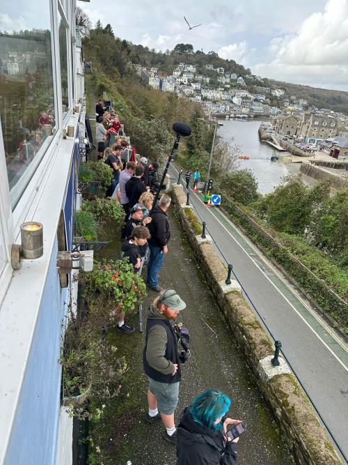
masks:
[[[300,163],[271,162],[272,155],[281,154],[268,144],[261,144],[258,128],[262,119],[231,119],[221,122],[223,126],[219,126],[218,134],[226,141],[234,137],[233,143],[240,146],[241,155],[250,157],[249,160],[239,160],[239,169],[249,168],[253,171],[258,179],[258,191],[261,194],[274,190],[283,176],[299,173]]]

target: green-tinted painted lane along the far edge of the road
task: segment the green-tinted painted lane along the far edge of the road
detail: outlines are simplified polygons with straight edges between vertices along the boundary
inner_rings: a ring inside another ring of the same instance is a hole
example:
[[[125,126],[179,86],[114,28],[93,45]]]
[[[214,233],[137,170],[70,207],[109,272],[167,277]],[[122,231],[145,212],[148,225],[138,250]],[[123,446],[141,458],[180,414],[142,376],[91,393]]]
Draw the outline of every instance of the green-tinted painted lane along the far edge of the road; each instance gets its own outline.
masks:
[[[200,200],[203,200],[202,195],[197,195]],[[232,225],[232,222],[226,218],[225,215],[218,208],[210,208],[209,210],[214,217],[223,224],[223,226],[228,230],[230,235],[235,238],[237,243],[245,250],[245,252],[251,257],[255,265],[262,270],[262,272],[267,275],[268,279],[274,284],[276,289],[280,291],[286,300],[295,308],[298,314],[308,323],[310,328],[322,339],[322,341],[329,346],[329,349],[335,353],[335,356],[348,368],[348,348],[343,341],[339,341],[336,336],[334,337],[331,334],[331,329],[324,325],[324,322],[320,321],[315,314],[314,310],[310,310],[306,305],[304,305],[299,296],[296,296],[294,291],[288,287],[288,285],[280,278],[277,273],[267,264],[267,261],[264,261],[264,258],[256,250],[256,247],[252,247],[251,244],[246,241],[244,236]],[[243,284],[243,283],[242,283]]]

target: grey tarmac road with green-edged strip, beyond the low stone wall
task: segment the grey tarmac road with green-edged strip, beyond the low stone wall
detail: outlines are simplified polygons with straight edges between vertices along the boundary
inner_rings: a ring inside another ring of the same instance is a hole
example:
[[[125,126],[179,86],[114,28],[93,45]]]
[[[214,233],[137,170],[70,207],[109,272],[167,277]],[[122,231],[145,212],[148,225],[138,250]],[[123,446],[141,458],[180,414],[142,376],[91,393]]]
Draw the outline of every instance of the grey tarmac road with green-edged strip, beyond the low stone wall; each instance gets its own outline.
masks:
[[[177,178],[177,169],[172,166],[170,174]],[[222,252],[233,265],[262,324],[267,324],[274,338],[282,342],[282,351],[294,373],[348,457],[347,344],[219,208],[207,208],[202,196],[190,191],[190,203],[206,222],[208,234],[219,245],[219,254]]]

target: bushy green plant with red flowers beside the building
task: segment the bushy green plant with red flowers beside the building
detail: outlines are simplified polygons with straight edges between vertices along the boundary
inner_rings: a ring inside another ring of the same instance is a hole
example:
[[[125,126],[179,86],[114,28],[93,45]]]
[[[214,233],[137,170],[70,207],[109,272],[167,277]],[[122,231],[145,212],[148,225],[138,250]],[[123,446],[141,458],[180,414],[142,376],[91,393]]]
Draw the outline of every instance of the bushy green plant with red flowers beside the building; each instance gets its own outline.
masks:
[[[118,321],[122,314],[135,314],[146,296],[142,278],[133,273],[127,259],[95,261],[93,271],[79,280],[81,294],[98,325]]]

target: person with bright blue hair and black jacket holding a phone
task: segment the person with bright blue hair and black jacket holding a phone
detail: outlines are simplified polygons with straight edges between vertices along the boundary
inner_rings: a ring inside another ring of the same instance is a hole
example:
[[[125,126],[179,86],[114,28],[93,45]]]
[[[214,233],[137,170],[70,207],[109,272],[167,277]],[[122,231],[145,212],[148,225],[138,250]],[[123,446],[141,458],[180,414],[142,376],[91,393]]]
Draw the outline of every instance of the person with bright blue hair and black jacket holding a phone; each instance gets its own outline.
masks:
[[[230,398],[220,390],[206,390],[184,409],[177,427],[177,465],[236,465],[237,442],[225,436]],[[222,430],[222,431],[221,431]],[[227,440],[226,440],[227,437]]]

